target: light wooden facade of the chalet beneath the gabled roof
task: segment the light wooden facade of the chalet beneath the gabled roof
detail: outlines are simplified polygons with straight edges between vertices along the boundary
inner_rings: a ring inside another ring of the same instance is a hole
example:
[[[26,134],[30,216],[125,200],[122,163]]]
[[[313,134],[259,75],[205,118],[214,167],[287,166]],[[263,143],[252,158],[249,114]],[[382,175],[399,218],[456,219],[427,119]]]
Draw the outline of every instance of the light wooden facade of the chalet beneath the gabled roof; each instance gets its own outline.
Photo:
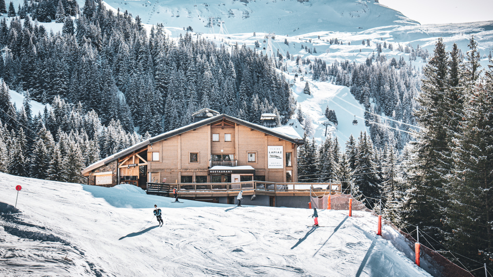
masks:
[[[297,146],[303,143],[299,136],[221,114],[150,138],[82,173],[91,185],[130,183],[144,189],[147,182],[297,182]],[[269,149],[276,150],[271,158]],[[210,170],[214,166],[234,170]],[[106,175],[98,177],[100,172]]]

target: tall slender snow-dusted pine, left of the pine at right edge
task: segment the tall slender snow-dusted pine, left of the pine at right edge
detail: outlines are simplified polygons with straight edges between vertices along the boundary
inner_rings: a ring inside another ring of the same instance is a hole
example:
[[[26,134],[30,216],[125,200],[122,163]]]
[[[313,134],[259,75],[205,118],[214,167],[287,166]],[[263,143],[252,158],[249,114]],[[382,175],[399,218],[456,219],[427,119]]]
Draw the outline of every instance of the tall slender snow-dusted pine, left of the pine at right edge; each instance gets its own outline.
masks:
[[[422,93],[418,98],[420,107],[415,111],[422,129],[417,134],[413,166],[408,168],[409,187],[403,211],[405,221],[419,225],[436,241],[441,241],[446,232],[442,223],[445,219],[443,209],[448,205],[444,188],[446,175],[452,167],[443,159],[451,146],[446,143],[448,134],[444,128],[450,120],[444,118],[445,109],[449,107],[445,100],[446,91],[450,89],[448,66],[445,44],[439,38],[434,56],[423,67]]]

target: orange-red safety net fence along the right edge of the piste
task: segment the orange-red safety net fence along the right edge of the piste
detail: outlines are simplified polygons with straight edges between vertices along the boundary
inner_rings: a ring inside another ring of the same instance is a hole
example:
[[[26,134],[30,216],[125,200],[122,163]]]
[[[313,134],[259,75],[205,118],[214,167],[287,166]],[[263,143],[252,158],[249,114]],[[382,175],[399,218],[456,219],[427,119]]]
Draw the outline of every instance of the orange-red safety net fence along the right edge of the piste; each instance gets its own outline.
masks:
[[[366,211],[374,216],[378,217],[375,210],[367,208],[364,203],[352,197],[351,194],[324,194],[319,197],[311,196],[311,207],[318,209],[327,209],[330,205],[330,209],[334,210],[349,210],[350,199],[351,210],[353,211]],[[392,245],[406,257],[411,260],[417,261],[418,265],[423,268],[427,273],[434,277],[473,277],[473,275],[449,261],[437,251],[434,251],[420,243],[419,246],[419,259],[416,254],[417,241],[408,233],[401,231],[389,220],[382,218],[382,238],[390,241]],[[400,235],[400,236],[399,236]]]

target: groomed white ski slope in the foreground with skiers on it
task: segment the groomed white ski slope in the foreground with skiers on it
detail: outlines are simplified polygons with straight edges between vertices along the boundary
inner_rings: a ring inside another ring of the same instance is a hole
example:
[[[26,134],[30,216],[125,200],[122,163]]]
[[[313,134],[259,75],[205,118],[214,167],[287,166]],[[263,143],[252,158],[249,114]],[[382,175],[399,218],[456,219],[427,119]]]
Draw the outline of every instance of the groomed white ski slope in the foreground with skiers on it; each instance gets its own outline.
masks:
[[[125,187],[0,179],[1,203],[14,204],[14,187],[23,186],[19,213],[0,204],[1,276],[429,276],[376,236],[365,212],[321,210],[325,227],[313,228],[309,209],[180,204]],[[154,204],[163,227],[151,218]]]

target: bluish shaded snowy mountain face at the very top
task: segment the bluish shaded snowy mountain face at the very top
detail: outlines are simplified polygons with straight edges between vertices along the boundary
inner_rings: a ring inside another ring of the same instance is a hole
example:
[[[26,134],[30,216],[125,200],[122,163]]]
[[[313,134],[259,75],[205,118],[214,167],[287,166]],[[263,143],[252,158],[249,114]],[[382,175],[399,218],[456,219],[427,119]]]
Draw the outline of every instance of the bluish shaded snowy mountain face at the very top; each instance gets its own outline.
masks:
[[[139,15],[143,23],[188,27],[209,33],[210,17],[219,33],[224,21],[231,34],[275,32],[299,35],[314,31],[358,31],[418,22],[375,0],[107,0],[121,11]],[[79,5],[83,6],[83,1]]]

